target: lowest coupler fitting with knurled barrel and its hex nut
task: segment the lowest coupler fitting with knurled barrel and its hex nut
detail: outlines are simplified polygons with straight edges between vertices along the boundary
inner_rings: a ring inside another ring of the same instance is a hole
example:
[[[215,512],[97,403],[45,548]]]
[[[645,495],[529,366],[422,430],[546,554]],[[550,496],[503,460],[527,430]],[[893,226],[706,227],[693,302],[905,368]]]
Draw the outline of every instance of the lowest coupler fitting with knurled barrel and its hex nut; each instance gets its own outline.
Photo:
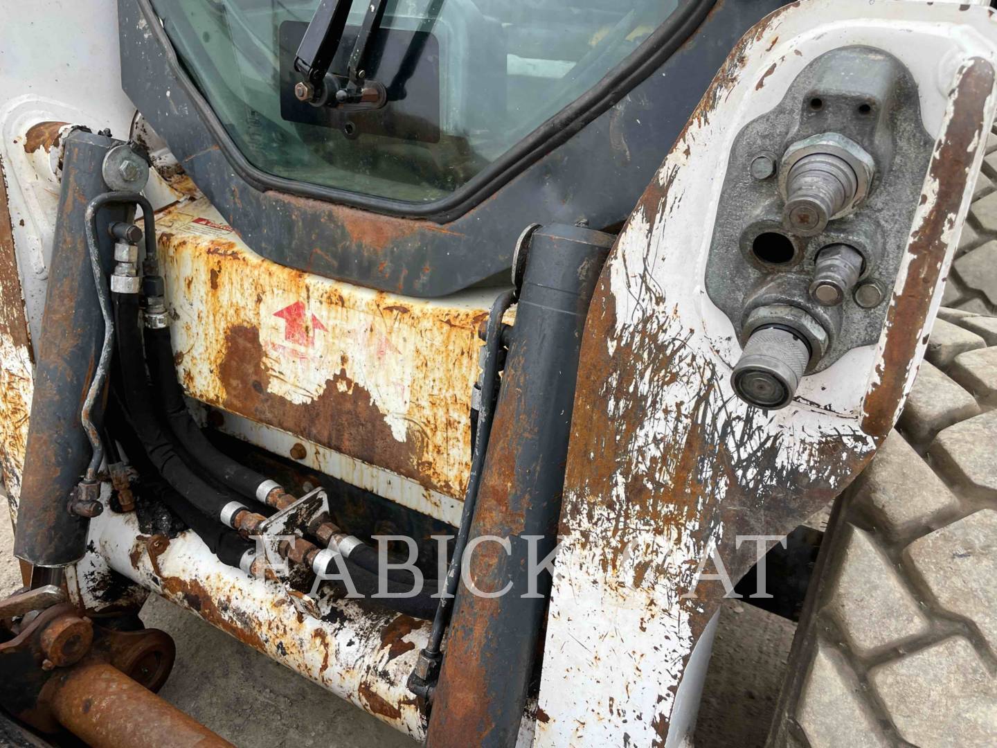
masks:
[[[766,410],[785,408],[808,367],[824,355],[828,333],[803,309],[773,304],[748,316],[748,340],[731,382],[738,397]]]

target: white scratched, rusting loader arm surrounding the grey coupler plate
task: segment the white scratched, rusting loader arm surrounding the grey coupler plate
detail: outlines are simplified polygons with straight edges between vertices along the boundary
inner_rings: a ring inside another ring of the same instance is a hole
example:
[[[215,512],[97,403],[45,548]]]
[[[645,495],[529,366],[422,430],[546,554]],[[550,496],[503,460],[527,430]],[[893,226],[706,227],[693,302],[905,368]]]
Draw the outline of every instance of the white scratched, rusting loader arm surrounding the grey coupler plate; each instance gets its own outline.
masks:
[[[943,21],[973,23],[983,36]],[[923,353],[972,190],[966,176],[993,118],[984,75],[963,105],[972,116],[957,122],[947,87],[936,85],[937,60],[953,47],[958,61],[992,60],[995,32],[984,9],[817,0],[763,21],[718,73],[624,227],[589,312],[535,745],[688,739],[694,719],[673,712],[676,694],[724,591],[704,582],[684,596],[700,561],[717,550],[736,578],[755,544],[738,551],[735,535],[792,530],[887,433]],[[791,407],[758,411],[733,395],[740,349],[703,282],[727,154],[810,61],[863,43],[907,64],[928,131],[951,131],[936,146],[879,344],[806,378]],[[930,63],[926,49],[939,53]],[[957,67],[949,80],[968,82]]]

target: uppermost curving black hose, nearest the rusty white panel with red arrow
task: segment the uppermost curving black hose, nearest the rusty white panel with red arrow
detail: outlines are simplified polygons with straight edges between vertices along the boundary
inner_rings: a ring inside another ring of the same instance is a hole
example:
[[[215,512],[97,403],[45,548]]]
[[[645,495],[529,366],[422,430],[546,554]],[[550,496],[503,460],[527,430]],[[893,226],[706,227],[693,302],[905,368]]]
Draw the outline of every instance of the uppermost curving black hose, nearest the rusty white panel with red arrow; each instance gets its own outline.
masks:
[[[146,330],[146,362],[153,387],[160,397],[166,425],[191,457],[226,486],[250,499],[262,501],[265,497],[257,497],[256,489],[269,479],[217,449],[190,417],[183,402],[183,390],[176,380],[168,327]]]

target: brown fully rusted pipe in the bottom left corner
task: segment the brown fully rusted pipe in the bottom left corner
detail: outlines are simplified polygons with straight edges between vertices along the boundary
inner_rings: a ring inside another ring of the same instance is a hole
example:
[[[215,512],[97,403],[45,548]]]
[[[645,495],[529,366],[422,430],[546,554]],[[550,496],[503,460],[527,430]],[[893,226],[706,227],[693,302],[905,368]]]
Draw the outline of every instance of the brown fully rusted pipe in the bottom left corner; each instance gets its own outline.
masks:
[[[106,662],[59,672],[45,697],[59,723],[93,748],[234,748]]]

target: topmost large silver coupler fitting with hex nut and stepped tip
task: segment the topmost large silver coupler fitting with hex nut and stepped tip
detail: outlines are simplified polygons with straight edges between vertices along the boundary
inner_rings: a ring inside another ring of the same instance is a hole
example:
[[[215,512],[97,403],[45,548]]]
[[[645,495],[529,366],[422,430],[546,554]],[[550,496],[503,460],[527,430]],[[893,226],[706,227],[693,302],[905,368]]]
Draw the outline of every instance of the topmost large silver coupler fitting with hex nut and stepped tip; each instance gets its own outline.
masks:
[[[831,218],[845,215],[864,199],[874,173],[872,157],[836,133],[793,144],[780,168],[783,224],[800,236],[816,236]]]

